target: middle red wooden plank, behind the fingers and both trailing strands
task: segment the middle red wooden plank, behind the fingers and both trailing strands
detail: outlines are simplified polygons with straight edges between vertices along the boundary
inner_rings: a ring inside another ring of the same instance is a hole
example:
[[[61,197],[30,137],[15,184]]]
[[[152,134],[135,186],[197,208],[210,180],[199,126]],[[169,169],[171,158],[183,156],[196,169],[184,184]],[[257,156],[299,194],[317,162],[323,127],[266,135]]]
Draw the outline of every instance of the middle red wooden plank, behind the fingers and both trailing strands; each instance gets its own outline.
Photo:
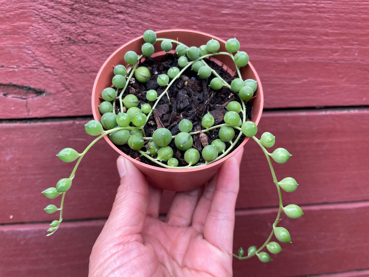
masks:
[[[258,136],[270,131],[276,136],[273,149],[285,147],[293,154],[286,164],[274,163],[277,178],[294,177],[300,184],[293,193],[282,192],[284,203],[368,200],[369,188],[364,185],[369,164],[368,120],[369,109],[265,113]],[[60,199],[47,199],[41,191],[69,177],[74,166],[63,163],[55,154],[65,147],[82,152],[93,140],[85,133],[85,123],[60,120],[0,124],[1,223],[55,219],[42,209],[48,204],[59,205]],[[104,141],[86,154],[66,194],[66,219],[108,216],[119,184],[117,157]],[[240,179],[237,208],[278,205],[268,163],[254,141],[245,146]],[[168,210],[172,195],[165,193],[162,213]]]

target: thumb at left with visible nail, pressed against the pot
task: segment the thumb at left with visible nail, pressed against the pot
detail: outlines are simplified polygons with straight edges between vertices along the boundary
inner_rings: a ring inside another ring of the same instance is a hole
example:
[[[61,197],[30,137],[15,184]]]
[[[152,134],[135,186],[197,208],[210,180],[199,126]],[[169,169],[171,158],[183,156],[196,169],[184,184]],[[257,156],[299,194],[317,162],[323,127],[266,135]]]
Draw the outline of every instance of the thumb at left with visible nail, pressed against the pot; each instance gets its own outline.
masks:
[[[138,234],[142,231],[147,212],[149,186],[146,177],[131,161],[120,156],[117,166],[120,186],[101,233],[115,236]]]

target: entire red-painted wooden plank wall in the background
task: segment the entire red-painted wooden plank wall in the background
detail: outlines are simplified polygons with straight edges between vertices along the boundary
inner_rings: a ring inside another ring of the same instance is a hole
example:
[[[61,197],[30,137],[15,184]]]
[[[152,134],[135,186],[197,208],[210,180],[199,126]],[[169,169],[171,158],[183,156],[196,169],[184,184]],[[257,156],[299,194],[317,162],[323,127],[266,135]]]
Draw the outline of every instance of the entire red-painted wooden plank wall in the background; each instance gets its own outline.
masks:
[[[234,276],[369,276],[366,0],[0,0],[0,276],[87,276],[118,187],[117,154],[104,141],[87,154],[66,196],[68,222],[51,237],[41,191],[71,171],[55,154],[91,139],[83,124],[106,58],[168,28],[241,42],[265,91],[259,134],[293,154],[276,165],[277,178],[300,184],[283,193],[305,213],[283,217],[293,244],[268,264],[235,260]],[[278,205],[255,143],[244,156],[235,251],[263,243]]]

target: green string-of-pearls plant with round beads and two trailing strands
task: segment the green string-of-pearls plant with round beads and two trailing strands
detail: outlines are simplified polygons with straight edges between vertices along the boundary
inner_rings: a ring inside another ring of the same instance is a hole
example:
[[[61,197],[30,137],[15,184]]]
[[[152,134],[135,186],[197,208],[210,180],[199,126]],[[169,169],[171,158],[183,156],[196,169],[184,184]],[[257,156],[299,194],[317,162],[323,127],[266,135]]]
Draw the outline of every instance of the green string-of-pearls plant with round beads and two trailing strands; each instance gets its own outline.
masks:
[[[262,262],[268,262],[271,260],[270,255],[267,252],[262,251],[265,247],[270,253],[277,254],[282,248],[277,242],[270,242],[275,235],[276,239],[283,243],[291,242],[289,232],[283,227],[277,227],[277,223],[280,220],[280,214],[282,210],[290,218],[299,218],[303,215],[301,208],[297,205],[291,204],[282,205],[282,194],[280,188],[286,192],[293,192],[297,188],[297,182],[292,177],[277,181],[273,165],[270,157],[279,164],[286,163],[290,154],[284,148],[277,148],[272,153],[269,153],[266,148],[272,147],[275,143],[275,137],[269,133],[263,133],[261,138],[255,137],[257,127],[254,122],[247,121],[246,119],[246,106],[245,101],[250,100],[257,88],[257,82],[252,79],[242,80],[239,68],[248,64],[248,55],[239,51],[240,45],[238,40],[231,38],[225,44],[225,48],[228,52],[218,52],[220,44],[217,40],[210,40],[206,45],[197,47],[187,47],[179,41],[171,40],[167,38],[157,38],[154,31],[148,30],[144,33],[145,44],[142,45],[142,55],[137,55],[134,51],[128,51],[124,55],[124,60],[128,64],[128,68],[124,65],[116,65],[114,67],[114,77],[112,84],[114,88],[106,88],[102,92],[102,102],[99,106],[99,111],[102,114],[101,122],[91,120],[85,125],[85,130],[91,136],[97,136],[82,153],[78,153],[72,148],[65,148],[58,153],[58,157],[66,162],[70,163],[77,160],[75,167],[69,178],[63,178],[59,180],[56,187],[45,189],[42,193],[50,199],[54,199],[59,195],[62,195],[60,208],[55,205],[48,205],[45,208],[47,213],[55,213],[60,211],[59,220],[51,222],[51,227],[48,229],[48,235],[50,236],[58,230],[60,223],[63,220],[63,202],[66,192],[72,185],[72,180],[75,177],[77,167],[82,160],[86,152],[98,141],[100,138],[110,135],[110,140],[117,145],[128,144],[132,150],[138,151],[142,156],[148,158],[153,163],[161,165],[165,168],[188,168],[188,167],[200,167],[207,165],[223,158],[227,155],[231,149],[235,146],[241,135],[244,134],[247,137],[252,137],[256,143],[262,148],[266,159],[268,160],[270,171],[272,173],[273,181],[276,184],[277,192],[279,195],[279,210],[276,216],[276,220],[273,223],[273,228],[270,232],[268,239],[265,243],[257,248],[256,246],[250,246],[247,251],[247,256],[244,256],[244,250],[242,247],[238,250],[238,254],[233,254],[238,259],[248,259],[252,256],[258,256]],[[138,82],[145,83],[150,79],[150,71],[144,66],[138,66],[139,61],[146,57],[150,57],[154,54],[154,44],[161,41],[161,48],[165,52],[172,50],[173,44],[176,44],[175,52],[178,55],[178,67],[172,67],[168,69],[167,74],[158,75],[157,83],[161,87],[165,87],[163,92],[158,96],[156,90],[148,90],[146,92],[146,99],[148,102],[154,102],[152,106],[150,103],[143,103],[141,108],[138,107],[139,101],[133,94],[126,94],[129,81],[133,78]],[[233,55],[235,53],[235,55]],[[227,55],[229,56],[236,66],[238,78],[232,80],[229,84],[221,76],[208,65],[206,58],[215,55]],[[147,137],[145,134],[145,124],[148,122],[152,111],[158,105],[159,100],[165,95],[169,100],[168,89],[173,83],[180,78],[183,72],[191,66],[191,69],[197,72],[197,75],[202,79],[208,79],[212,74],[214,78],[210,81],[210,87],[213,90],[220,90],[223,86],[226,86],[232,92],[238,95],[238,101],[231,101],[226,106],[227,113],[224,115],[224,123],[214,126],[214,117],[207,113],[203,116],[201,126],[203,130],[192,131],[193,125],[190,120],[182,119],[179,122],[180,133],[172,135],[172,133],[166,128],[159,128],[152,133],[152,137]],[[125,96],[124,96],[125,95]],[[123,98],[124,96],[124,98]],[[119,105],[119,113],[115,114],[115,106]],[[240,116],[241,114],[241,116]],[[104,129],[106,130],[104,130]],[[213,140],[211,144],[205,146],[201,151],[205,163],[198,164],[200,160],[200,153],[197,149],[193,148],[193,135],[200,132],[206,133],[212,129],[219,128],[219,138]],[[238,131],[238,134],[235,134]],[[173,158],[173,149],[168,144],[174,139],[175,146],[184,152],[184,160],[187,165],[178,166],[178,160]],[[226,147],[226,143],[229,144]],[[146,151],[142,151],[143,147]]]

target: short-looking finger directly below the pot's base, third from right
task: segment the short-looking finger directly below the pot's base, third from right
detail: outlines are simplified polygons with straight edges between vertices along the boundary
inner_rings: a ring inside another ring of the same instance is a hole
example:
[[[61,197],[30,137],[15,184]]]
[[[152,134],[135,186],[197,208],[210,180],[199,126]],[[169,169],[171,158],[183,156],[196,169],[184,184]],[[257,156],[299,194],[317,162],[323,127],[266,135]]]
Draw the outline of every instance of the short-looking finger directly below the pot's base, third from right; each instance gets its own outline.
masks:
[[[167,223],[172,226],[190,226],[201,191],[202,188],[197,188],[192,191],[177,192],[167,213]]]

